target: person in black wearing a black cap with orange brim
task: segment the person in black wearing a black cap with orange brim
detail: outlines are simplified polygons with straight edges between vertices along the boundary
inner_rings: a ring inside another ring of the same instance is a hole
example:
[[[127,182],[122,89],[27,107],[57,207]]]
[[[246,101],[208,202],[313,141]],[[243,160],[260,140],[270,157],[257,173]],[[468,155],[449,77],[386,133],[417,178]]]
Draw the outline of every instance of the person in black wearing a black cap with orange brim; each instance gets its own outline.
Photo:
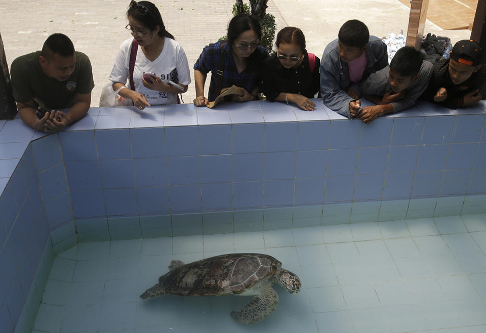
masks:
[[[481,47],[473,40],[460,40],[450,59],[434,64],[423,98],[457,109],[473,106],[486,97],[486,68],[480,63]]]

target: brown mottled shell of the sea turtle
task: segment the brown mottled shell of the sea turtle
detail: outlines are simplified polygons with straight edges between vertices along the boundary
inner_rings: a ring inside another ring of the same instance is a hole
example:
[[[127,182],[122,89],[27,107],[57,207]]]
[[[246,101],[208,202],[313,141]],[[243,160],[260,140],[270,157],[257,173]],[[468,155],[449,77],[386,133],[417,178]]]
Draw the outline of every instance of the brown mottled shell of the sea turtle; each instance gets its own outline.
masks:
[[[281,263],[257,253],[221,255],[185,264],[160,276],[166,293],[187,296],[233,295],[275,274]]]

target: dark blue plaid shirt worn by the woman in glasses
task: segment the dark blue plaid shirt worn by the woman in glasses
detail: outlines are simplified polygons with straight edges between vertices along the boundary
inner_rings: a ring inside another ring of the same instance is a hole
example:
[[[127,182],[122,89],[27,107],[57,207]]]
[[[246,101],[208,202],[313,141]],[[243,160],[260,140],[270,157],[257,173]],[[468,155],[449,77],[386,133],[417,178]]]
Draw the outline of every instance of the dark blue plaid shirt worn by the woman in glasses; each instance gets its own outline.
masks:
[[[194,69],[203,73],[209,73],[211,71],[211,83],[209,85],[209,97],[210,101],[214,101],[219,95],[216,92],[216,81],[219,64],[220,46],[223,41],[218,41],[215,44],[210,44],[206,46],[194,64]],[[223,70],[223,80],[221,81],[221,89],[226,87],[231,87],[235,85],[236,87],[245,88],[249,93],[255,88],[255,85],[260,80],[261,76],[261,64],[263,60],[268,57],[268,51],[265,48],[259,46],[251,56],[251,63],[247,68],[238,74],[236,70],[236,65],[234,64],[233,57],[231,56],[231,48],[229,43],[221,50],[221,54],[225,57],[224,70]]]

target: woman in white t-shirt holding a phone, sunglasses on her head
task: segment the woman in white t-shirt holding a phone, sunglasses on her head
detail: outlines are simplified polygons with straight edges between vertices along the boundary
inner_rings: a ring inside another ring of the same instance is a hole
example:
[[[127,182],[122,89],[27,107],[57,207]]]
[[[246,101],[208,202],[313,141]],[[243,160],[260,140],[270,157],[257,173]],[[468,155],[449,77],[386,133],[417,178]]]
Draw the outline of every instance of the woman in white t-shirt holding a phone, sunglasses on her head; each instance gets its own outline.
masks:
[[[191,82],[184,50],[166,30],[160,12],[151,2],[132,0],[127,17],[126,29],[131,31],[138,43],[133,70],[135,87],[131,87],[130,82],[128,88],[125,86],[129,78],[133,42],[133,38],[129,38],[121,43],[110,73],[113,90],[124,87],[118,94],[131,99],[140,110],[150,105],[178,103],[177,94],[185,93]],[[155,77],[145,75],[144,78],[143,73],[154,73]],[[183,90],[170,85],[169,81]]]

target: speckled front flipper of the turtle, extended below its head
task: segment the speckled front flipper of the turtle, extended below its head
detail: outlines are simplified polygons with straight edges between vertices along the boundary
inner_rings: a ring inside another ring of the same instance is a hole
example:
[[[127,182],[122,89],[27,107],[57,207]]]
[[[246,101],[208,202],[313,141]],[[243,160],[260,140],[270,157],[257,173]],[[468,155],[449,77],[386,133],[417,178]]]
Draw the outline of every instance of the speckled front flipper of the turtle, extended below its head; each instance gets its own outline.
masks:
[[[244,308],[231,311],[231,317],[240,324],[253,324],[272,313],[278,305],[278,294],[271,286],[262,290]]]

